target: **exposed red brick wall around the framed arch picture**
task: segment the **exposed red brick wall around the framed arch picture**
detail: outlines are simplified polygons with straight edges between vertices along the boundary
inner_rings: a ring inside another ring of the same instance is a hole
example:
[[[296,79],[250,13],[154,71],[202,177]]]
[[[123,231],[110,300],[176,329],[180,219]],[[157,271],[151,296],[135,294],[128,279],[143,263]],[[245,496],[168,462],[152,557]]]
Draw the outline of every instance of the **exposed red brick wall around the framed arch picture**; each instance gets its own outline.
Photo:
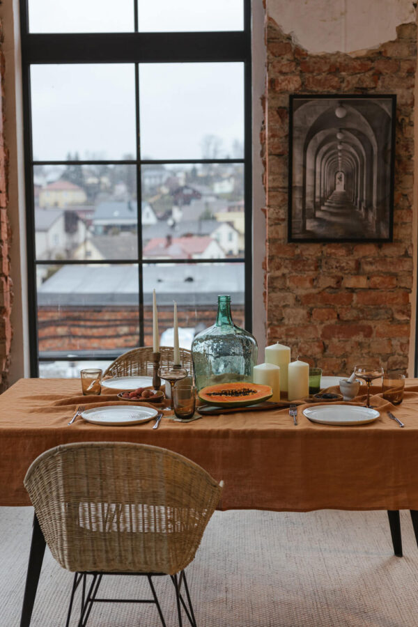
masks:
[[[361,56],[310,55],[271,18],[261,132],[267,192],[265,299],[268,343],[280,341],[325,374],[346,374],[377,357],[406,370],[412,289],[415,24]],[[394,242],[287,242],[288,96],[396,93]],[[413,376],[413,373],[411,373]]]

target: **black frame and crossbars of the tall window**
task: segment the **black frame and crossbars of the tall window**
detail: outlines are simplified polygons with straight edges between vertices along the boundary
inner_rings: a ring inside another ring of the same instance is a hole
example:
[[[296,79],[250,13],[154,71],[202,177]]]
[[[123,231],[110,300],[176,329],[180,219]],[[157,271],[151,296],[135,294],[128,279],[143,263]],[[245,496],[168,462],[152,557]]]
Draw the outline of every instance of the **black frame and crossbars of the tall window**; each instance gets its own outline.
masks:
[[[137,169],[138,253],[137,260],[111,260],[109,263],[138,263],[139,268],[139,346],[144,346],[143,265],[164,263],[164,260],[144,260],[141,229],[141,167],[150,164],[242,164],[244,168],[245,255],[223,259],[222,263],[242,263],[245,268],[245,328],[252,328],[252,124],[251,124],[251,0],[243,0],[244,29],[242,31],[203,31],[172,33],[141,33],[138,31],[138,2],[134,4],[134,32],[130,33],[30,33],[29,0],[20,0],[22,42],[22,96],[24,122],[24,173],[26,199],[26,247],[29,300],[29,350],[32,377],[39,376],[38,307],[36,268],[38,265],[85,265],[103,261],[36,259],[35,201],[33,192],[34,165],[68,164],[134,164]],[[241,159],[141,160],[139,137],[139,64],[141,63],[227,63],[244,65],[244,155]],[[133,63],[135,68],[135,106],[137,154],[134,160],[33,160],[31,129],[30,67],[34,64],[60,63]],[[170,261],[170,260],[169,260]],[[165,263],[169,263],[165,261]],[[213,263],[213,259],[176,260],[176,263]],[[75,359],[113,360],[116,354],[62,351],[42,355],[42,361],[73,361]],[[118,351],[120,354],[122,351]]]

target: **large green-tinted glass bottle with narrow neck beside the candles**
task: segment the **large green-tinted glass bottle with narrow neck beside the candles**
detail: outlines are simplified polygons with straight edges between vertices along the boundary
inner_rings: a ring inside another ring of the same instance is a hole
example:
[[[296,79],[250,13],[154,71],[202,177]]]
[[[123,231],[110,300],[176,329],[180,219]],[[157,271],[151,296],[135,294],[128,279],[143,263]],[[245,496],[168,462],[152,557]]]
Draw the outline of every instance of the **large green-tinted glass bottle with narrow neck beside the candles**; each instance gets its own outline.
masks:
[[[197,334],[192,343],[197,389],[217,383],[251,381],[257,353],[256,339],[232,321],[231,297],[218,296],[215,324]]]

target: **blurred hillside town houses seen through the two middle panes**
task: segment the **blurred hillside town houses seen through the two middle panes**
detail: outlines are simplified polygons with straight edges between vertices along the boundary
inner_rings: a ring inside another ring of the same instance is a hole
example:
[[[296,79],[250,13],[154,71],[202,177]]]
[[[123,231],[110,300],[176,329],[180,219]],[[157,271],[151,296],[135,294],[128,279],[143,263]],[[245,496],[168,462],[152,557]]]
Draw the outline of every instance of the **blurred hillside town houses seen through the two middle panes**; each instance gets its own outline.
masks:
[[[42,167],[36,171],[36,251],[40,259],[134,260],[136,183],[123,169]],[[54,180],[53,180],[54,179]],[[144,258],[222,259],[244,254],[242,168],[163,164],[141,169]],[[94,194],[93,191],[95,190]]]

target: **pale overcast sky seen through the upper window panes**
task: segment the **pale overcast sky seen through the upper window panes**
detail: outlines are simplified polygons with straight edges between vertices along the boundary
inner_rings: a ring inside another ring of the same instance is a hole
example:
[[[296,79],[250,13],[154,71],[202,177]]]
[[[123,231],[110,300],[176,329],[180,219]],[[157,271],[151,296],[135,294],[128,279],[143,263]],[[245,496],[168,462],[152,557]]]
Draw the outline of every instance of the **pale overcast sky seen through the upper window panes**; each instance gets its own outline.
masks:
[[[129,31],[132,0],[30,0],[32,32]],[[82,19],[81,17],[82,16]],[[141,30],[242,28],[242,0],[139,0]],[[62,160],[135,155],[134,65],[33,65],[33,155]],[[140,66],[141,156],[196,159],[202,140],[222,139],[219,157],[243,144],[242,63]],[[243,156],[243,155],[240,155]]]

